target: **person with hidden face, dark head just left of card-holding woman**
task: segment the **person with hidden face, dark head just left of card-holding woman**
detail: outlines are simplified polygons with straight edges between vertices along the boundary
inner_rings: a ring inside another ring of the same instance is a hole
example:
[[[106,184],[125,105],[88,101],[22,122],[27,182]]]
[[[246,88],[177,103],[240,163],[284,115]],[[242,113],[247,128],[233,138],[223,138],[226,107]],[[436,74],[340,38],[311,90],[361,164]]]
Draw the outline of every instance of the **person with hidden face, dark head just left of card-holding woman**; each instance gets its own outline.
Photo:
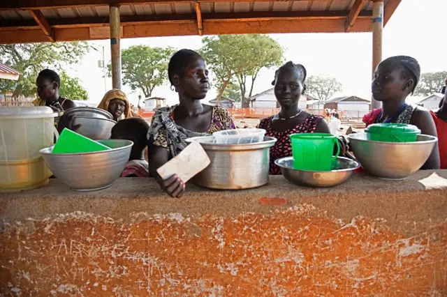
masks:
[[[110,139],[127,139],[133,142],[131,156],[121,177],[147,177],[149,169],[145,160],[149,124],[140,118],[123,119],[112,128]]]

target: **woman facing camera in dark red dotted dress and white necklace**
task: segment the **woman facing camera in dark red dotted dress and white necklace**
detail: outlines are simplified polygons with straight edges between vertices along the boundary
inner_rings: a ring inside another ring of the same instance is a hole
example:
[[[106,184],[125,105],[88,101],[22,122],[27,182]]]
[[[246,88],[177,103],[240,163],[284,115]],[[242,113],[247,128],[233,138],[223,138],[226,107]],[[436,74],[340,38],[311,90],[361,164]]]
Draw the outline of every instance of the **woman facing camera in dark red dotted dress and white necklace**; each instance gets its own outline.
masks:
[[[270,174],[281,174],[274,160],[292,155],[290,135],[294,133],[330,133],[323,116],[309,114],[298,107],[298,100],[305,92],[306,68],[289,61],[274,73],[274,96],[281,111],[279,114],[262,119],[259,128],[265,129],[265,136],[275,137],[277,143],[270,148]]]

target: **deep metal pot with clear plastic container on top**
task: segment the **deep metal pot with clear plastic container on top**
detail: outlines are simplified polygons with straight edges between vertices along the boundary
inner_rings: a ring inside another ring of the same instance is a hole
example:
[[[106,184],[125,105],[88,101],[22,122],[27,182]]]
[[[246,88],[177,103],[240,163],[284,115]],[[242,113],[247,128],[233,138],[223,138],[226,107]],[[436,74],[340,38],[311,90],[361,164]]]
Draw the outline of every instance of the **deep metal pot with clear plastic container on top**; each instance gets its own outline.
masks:
[[[277,142],[264,137],[253,144],[215,144],[214,137],[193,137],[207,152],[211,164],[193,178],[193,183],[205,188],[241,190],[261,187],[268,183],[270,148]]]

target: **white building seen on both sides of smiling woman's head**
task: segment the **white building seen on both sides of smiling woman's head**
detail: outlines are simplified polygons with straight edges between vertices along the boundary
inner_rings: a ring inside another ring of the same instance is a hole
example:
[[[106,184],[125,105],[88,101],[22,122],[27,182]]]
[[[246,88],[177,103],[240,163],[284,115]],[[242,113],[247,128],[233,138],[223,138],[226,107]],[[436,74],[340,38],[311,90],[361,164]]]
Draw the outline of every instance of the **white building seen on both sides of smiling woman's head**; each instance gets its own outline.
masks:
[[[249,98],[252,108],[280,108],[274,96],[274,88],[268,89]],[[302,94],[298,106],[302,109],[322,109],[323,102],[312,96]]]

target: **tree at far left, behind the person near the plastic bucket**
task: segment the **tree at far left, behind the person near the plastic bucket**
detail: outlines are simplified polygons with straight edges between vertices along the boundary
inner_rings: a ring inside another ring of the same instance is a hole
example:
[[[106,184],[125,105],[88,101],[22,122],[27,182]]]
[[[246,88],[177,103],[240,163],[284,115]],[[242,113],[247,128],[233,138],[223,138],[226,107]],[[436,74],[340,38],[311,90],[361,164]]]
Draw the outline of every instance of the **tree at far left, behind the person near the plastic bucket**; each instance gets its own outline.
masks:
[[[86,42],[25,43],[0,45],[0,61],[20,72],[17,82],[0,81],[0,93],[13,91],[13,96],[35,96],[36,78],[45,69],[61,70],[78,63],[88,52]]]

